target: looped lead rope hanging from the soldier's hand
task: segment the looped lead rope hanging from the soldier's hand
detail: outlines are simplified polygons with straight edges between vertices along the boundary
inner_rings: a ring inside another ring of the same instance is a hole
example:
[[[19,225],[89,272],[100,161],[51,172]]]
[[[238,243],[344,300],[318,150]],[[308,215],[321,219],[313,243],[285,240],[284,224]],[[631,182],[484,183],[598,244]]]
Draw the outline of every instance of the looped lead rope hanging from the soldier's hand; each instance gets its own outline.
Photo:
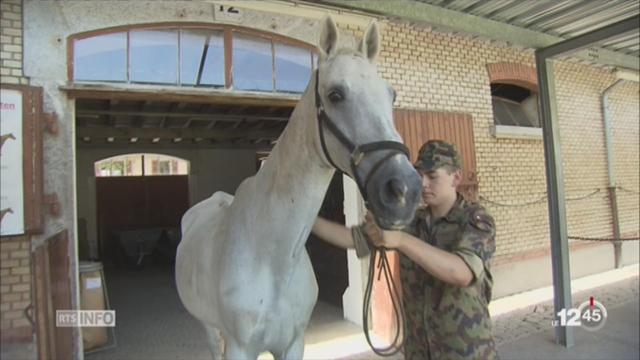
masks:
[[[402,299],[400,298],[400,292],[396,286],[393,276],[391,274],[391,267],[389,266],[389,259],[387,259],[387,249],[385,248],[373,248],[369,258],[369,279],[367,280],[367,288],[364,292],[364,305],[362,309],[362,326],[364,327],[364,335],[367,338],[369,346],[376,354],[380,356],[392,356],[398,351],[402,350],[404,341],[406,339],[406,324],[404,306],[402,306]],[[391,303],[393,304],[393,313],[395,315],[396,334],[390,345],[382,348],[376,348],[371,342],[371,336],[369,334],[369,308],[371,307],[371,295],[373,293],[373,278],[376,270],[376,258],[378,258],[378,280],[380,276],[384,274],[385,282],[387,283],[387,289],[389,289],[389,296],[391,297]]]

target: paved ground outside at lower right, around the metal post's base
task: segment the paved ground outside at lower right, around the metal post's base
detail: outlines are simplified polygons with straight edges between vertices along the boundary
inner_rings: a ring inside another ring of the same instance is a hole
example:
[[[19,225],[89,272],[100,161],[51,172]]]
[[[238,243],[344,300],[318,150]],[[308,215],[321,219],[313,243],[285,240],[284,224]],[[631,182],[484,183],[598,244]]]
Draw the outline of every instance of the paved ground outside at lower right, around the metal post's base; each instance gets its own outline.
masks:
[[[638,276],[573,295],[579,305],[590,296],[607,309],[604,327],[575,329],[575,346],[555,344],[553,303],[545,302],[495,317],[494,333],[503,359],[639,359]],[[575,306],[574,305],[574,306]]]

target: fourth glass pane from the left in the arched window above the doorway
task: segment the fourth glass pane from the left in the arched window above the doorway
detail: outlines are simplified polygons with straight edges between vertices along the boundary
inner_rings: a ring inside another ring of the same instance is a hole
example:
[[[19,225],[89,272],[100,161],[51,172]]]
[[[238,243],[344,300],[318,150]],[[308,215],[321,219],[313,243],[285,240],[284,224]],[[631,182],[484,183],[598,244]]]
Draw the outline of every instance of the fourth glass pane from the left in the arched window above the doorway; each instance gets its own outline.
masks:
[[[236,90],[273,91],[271,42],[233,35],[233,87]]]

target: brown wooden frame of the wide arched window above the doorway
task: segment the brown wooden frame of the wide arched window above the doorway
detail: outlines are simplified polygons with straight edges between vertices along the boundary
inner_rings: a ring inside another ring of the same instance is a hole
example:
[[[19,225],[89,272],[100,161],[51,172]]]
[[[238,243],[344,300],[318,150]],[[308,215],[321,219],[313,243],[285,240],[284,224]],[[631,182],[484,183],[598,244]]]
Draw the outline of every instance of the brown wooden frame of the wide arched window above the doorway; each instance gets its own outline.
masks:
[[[132,30],[170,30],[175,29],[178,32],[178,72],[180,72],[180,34],[182,29],[199,29],[199,30],[210,30],[210,31],[221,31],[223,36],[223,44],[224,44],[224,89],[235,91],[233,88],[233,34],[238,33],[244,36],[252,36],[259,38],[261,40],[269,41],[271,44],[271,64],[273,68],[273,81],[272,81],[272,89],[271,91],[248,91],[248,92],[257,92],[257,93],[283,93],[290,94],[290,92],[279,92],[276,89],[276,69],[275,69],[275,44],[284,44],[289,46],[294,46],[298,48],[302,48],[308,50],[310,53],[309,56],[309,64],[311,66],[311,72],[315,70],[315,61],[314,58],[318,57],[317,48],[315,45],[311,45],[301,40],[289,38],[283,35],[270,33],[266,31],[245,28],[237,25],[226,25],[226,24],[210,24],[210,23],[182,23],[182,22],[164,22],[164,23],[151,23],[151,24],[135,24],[135,25],[125,25],[125,26],[116,26],[110,28],[104,28],[99,30],[92,30],[82,33],[77,33],[71,35],[67,38],[67,80],[69,83],[113,83],[113,81],[102,81],[102,80],[74,80],[74,59],[75,59],[75,42],[78,40],[85,40],[96,36],[108,35],[111,33],[125,32],[127,43],[126,43],[126,56],[127,56],[127,69],[126,69],[126,81],[124,82],[116,82],[119,84],[126,85],[139,85],[136,82],[131,81],[131,39],[130,32]],[[178,74],[179,78],[179,74]],[[175,86],[176,88],[207,88],[208,86],[184,86],[181,84],[181,81],[176,81],[174,84],[157,84],[160,86]],[[244,90],[242,90],[244,91]]]

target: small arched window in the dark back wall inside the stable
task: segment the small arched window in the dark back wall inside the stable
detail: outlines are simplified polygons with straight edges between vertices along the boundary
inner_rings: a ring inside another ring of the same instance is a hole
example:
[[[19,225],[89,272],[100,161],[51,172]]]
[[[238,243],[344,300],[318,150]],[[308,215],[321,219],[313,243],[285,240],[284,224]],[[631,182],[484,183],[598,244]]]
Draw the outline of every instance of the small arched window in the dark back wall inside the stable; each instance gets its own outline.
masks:
[[[189,161],[160,154],[128,154],[97,161],[96,177],[188,175]]]

